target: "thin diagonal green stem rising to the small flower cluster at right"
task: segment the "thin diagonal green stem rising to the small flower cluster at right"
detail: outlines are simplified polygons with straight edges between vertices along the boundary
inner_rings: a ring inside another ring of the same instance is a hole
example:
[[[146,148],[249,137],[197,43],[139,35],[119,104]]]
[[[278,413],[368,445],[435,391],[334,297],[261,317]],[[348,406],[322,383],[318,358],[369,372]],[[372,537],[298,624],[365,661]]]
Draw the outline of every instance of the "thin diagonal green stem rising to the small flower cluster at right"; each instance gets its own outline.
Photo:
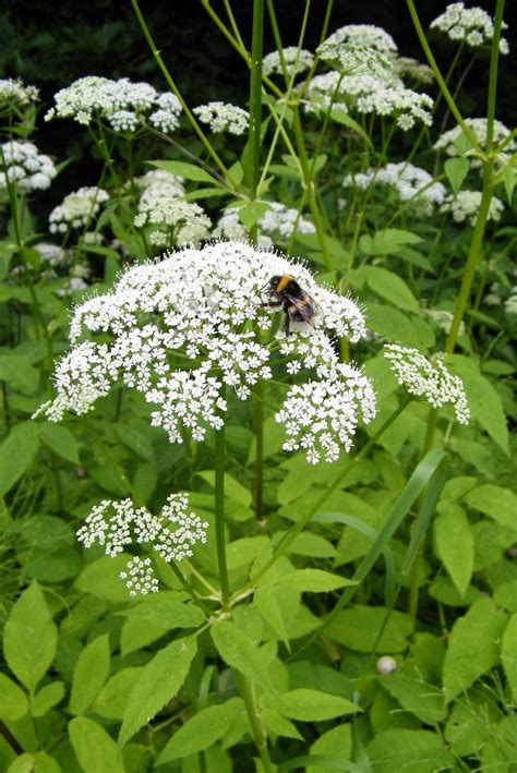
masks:
[[[236,600],[242,595],[242,593],[245,593],[250,588],[253,588],[256,585],[256,582],[263,577],[266,571],[268,571],[274,564],[278,560],[280,556],[282,556],[286,551],[292,545],[294,540],[297,539],[298,534],[300,534],[301,531],[306,527],[309,521],[313,516],[318,512],[318,510],[322,508],[322,506],[325,504],[325,502],[328,499],[330,494],[333,494],[345,481],[345,479],[348,476],[348,474],[353,470],[356,464],[363,459],[366,454],[369,454],[370,449],[373,448],[375,443],[378,440],[378,438],[386,432],[386,430],[393,424],[393,422],[397,419],[397,416],[405,410],[407,406],[411,402],[411,398],[407,396],[398,406],[398,408],[392,413],[388,419],[384,422],[384,424],[377,430],[377,432],[372,435],[372,437],[369,439],[369,442],[361,448],[361,450],[348,462],[346,468],[341,470],[341,472],[337,475],[337,478],[334,479],[333,483],[330,483],[329,486],[324,491],[322,496],[317,499],[317,502],[309,509],[309,511],[301,518],[291,529],[287,532],[287,534],[284,536],[281,542],[277,545],[275,553],[273,556],[269,558],[269,560],[260,569],[254,577],[251,578],[251,580],[239,591],[237,591],[232,600]]]

